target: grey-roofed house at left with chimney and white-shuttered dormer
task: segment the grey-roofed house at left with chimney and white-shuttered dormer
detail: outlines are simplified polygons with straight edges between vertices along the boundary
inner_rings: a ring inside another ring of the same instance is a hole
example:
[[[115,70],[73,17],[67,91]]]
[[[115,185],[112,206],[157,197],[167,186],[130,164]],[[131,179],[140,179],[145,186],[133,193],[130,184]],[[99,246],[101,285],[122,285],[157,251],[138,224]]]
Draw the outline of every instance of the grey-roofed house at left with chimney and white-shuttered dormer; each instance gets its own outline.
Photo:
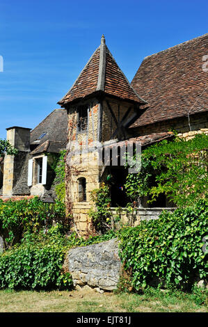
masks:
[[[67,144],[65,109],[55,109],[33,130],[7,128],[7,140],[19,152],[15,157],[1,158],[1,196],[43,196],[53,191],[51,163]]]

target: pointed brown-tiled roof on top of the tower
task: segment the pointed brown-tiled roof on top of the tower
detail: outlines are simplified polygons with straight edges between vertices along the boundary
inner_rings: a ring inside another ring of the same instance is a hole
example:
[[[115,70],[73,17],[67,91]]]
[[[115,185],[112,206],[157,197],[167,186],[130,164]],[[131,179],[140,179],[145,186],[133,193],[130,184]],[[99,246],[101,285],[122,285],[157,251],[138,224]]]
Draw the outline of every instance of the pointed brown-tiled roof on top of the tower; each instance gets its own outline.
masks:
[[[95,50],[72,88],[58,104],[64,106],[68,102],[92,95],[97,91],[102,91],[106,95],[113,95],[120,99],[145,103],[118,67],[111,52],[106,47],[104,35],[102,35],[101,45]]]

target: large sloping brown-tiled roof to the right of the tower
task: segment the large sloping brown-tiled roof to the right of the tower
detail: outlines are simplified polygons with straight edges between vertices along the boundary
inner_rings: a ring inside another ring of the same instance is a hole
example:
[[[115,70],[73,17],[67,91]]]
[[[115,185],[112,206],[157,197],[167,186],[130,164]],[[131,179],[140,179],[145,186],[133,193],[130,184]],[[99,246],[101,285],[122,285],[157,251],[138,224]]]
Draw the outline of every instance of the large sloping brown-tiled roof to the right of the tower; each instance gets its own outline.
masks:
[[[147,56],[131,81],[147,109],[130,127],[207,111],[208,73],[202,69],[207,54],[205,34]]]

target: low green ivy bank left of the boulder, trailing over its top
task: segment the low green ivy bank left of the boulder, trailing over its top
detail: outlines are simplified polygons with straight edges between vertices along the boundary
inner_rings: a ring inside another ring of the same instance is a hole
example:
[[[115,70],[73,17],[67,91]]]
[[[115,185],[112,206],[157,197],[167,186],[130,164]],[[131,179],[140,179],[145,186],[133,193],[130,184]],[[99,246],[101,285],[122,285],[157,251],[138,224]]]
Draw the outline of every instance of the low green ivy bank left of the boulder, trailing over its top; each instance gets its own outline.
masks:
[[[71,289],[72,278],[63,269],[67,251],[113,237],[112,231],[88,239],[79,239],[75,233],[67,237],[61,224],[49,228],[47,234],[25,232],[21,244],[0,255],[0,289]]]

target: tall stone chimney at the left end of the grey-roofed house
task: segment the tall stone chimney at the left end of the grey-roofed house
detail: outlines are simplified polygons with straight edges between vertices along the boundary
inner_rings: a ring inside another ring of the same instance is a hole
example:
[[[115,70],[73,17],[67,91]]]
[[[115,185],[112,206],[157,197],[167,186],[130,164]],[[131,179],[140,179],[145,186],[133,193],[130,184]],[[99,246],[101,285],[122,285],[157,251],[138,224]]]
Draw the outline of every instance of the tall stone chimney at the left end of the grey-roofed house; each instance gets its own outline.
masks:
[[[13,187],[21,173],[24,158],[30,152],[30,131],[24,127],[9,127],[7,130],[7,141],[19,150],[17,156],[8,154],[3,162],[3,196],[13,196]]]

